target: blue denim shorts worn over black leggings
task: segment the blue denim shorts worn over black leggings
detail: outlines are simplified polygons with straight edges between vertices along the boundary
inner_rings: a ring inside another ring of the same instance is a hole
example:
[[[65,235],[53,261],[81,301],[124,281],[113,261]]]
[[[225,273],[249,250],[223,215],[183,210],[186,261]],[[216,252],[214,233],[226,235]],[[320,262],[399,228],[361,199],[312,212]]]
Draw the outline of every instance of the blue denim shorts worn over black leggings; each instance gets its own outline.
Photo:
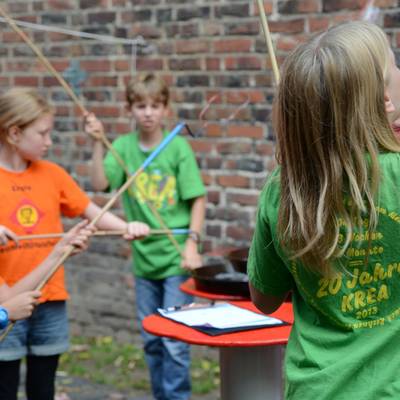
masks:
[[[66,302],[49,301],[39,304],[30,318],[15,323],[0,342],[0,361],[19,360],[26,355],[51,356],[68,348]]]

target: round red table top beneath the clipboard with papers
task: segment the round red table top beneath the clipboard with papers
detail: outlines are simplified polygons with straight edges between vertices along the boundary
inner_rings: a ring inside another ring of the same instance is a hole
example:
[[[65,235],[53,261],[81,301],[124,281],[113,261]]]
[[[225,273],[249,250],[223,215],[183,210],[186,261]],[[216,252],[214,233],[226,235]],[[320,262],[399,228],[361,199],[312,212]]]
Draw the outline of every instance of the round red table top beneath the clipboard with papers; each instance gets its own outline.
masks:
[[[230,303],[251,311],[257,311],[250,301],[231,301]],[[271,316],[292,324],[292,304],[283,303]],[[286,344],[289,338],[291,325],[210,336],[190,328],[189,326],[161,317],[160,315],[152,314],[143,320],[143,328],[153,335],[166,336],[190,344],[214,347],[253,347]]]

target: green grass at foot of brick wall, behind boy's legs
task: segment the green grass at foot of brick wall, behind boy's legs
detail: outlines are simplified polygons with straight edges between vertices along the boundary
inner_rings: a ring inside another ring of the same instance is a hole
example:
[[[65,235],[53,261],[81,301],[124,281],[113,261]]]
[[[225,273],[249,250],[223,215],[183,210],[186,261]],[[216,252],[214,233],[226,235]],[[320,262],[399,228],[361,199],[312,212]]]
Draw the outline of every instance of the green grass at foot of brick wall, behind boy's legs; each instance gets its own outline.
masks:
[[[74,337],[72,344],[72,350],[61,356],[59,370],[122,391],[150,390],[141,348],[118,343],[110,336]],[[193,357],[191,375],[193,393],[207,394],[219,386],[219,366],[215,360]]]

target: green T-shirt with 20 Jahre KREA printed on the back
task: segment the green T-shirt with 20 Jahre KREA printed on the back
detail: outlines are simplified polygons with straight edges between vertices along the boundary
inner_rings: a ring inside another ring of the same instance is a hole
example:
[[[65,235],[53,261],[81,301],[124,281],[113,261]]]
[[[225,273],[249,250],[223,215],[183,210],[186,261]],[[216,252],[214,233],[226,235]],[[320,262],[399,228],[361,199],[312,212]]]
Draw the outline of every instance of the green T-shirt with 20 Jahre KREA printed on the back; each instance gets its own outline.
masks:
[[[279,170],[260,197],[248,273],[264,294],[293,290],[286,399],[400,398],[400,155],[382,154],[379,160],[377,229],[369,246],[365,235],[353,236],[342,260],[347,271],[335,278],[309,272],[280,247]]]

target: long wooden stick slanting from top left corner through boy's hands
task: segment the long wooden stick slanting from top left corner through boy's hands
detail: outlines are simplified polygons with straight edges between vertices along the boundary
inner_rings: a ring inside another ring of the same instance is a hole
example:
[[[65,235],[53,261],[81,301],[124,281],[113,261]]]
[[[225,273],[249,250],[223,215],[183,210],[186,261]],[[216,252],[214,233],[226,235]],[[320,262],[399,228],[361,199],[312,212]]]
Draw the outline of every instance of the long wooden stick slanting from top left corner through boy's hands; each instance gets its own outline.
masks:
[[[60,83],[60,85],[65,89],[67,94],[71,97],[71,99],[74,101],[74,103],[78,106],[79,110],[83,115],[86,115],[88,113],[88,110],[85,108],[85,106],[82,104],[82,102],[79,100],[79,98],[76,96],[72,88],[68,85],[66,80],[62,77],[62,75],[57,72],[57,70],[51,65],[49,60],[43,55],[43,53],[40,51],[40,49],[33,43],[33,41],[25,34],[24,31],[20,29],[20,27],[15,23],[15,21],[0,7],[0,15],[7,21],[7,23],[11,26],[11,28],[22,38],[22,40],[31,48],[31,50],[37,55],[39,58],[39,61],[42,62],[42,64],[47,68],[47,70],[53,74],[53,76],[57,79],[57,81]],[[110,151],[110,153],[113,155],[113,157],[116,159],[118,164],[121,166],[121,168],[124,170],[126,176],[128,177],[130,175],[128,168],[126,167],[124,161],[120,157],[120,155],[117,153],[117,151],[112,147],[110,141],[107,139],[105,135],[100,135],[101,141],[105,145],[105,147]],[[141,190],[141,189],[139,189]],[[143,195],[143,193],[142,193]],[[160,214],[156,210],[156,208],[146,199],[146,196],[144,196],[145,203],[147,206],[150,208],[150,211],[154,215],[154,217],[157,219],[159,224],[163,229],[168,229],[167,225],[161,218]],[[182,251],[179,247],[178,242],[175,240],[173,235],[168,234],[168,237],[172,244],[174,245],[175,249],[178,251],[179,254],[182,256]]]

